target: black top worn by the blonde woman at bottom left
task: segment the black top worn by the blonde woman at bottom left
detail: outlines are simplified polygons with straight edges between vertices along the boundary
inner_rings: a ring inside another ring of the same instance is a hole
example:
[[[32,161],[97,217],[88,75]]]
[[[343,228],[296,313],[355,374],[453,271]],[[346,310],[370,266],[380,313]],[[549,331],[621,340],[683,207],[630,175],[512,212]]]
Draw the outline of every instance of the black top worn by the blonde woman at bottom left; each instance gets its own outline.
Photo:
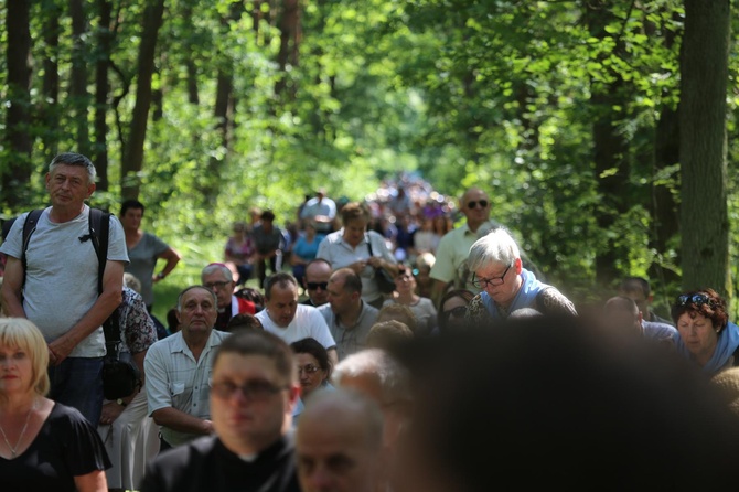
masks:
[[[23,453],[0,458],[0,489],[74,492],[75,477],[107,468],[110,460],[97,429],[78,410],[57,403]]]

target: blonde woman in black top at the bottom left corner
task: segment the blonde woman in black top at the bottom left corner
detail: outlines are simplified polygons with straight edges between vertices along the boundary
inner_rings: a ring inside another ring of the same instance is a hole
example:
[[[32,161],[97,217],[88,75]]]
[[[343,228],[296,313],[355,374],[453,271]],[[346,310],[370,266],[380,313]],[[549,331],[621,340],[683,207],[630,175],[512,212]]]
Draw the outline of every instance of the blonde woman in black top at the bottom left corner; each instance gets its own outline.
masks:
[[[22,318],[0,319],[2,490],[104,492],[110,461],[95,428],[49,392],[49,349]]]

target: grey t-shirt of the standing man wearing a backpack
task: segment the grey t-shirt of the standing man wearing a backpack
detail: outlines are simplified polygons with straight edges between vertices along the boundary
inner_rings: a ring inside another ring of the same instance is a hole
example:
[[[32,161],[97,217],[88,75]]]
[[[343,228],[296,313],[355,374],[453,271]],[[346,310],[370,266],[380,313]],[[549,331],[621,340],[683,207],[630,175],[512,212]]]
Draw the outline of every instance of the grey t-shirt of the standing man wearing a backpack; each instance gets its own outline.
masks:
[[[89,207],[69,222],[56,224],[49,220],[51,207],[44,210],[25,250],[26,271],[23,286],[23,309],[39,327],[46,342],[69,331],[97,300],[97,256],[92,240],[79,240],[89,234]],[[0,252],[21,258],[23,224],[28,213],[14,223]],[[110,215],[108,259],[128,263],[124,228]],[[122,282],[122,278],[121,278]],[[79,342],[72,357],[105,355],[105,336],[98,328]]]

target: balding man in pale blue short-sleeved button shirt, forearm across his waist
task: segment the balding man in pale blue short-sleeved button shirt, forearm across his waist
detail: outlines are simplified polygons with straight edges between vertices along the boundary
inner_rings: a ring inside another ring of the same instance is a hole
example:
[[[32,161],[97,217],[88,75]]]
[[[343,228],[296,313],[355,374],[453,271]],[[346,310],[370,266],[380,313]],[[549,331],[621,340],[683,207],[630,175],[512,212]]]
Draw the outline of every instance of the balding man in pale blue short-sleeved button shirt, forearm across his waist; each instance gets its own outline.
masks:
[[[214,330],[216,297],[203,286],[178,299],[180,331],[149,347],[143,361],[149,415],[161,426],[162,449],[213,432],[211,368],[228,333]]]

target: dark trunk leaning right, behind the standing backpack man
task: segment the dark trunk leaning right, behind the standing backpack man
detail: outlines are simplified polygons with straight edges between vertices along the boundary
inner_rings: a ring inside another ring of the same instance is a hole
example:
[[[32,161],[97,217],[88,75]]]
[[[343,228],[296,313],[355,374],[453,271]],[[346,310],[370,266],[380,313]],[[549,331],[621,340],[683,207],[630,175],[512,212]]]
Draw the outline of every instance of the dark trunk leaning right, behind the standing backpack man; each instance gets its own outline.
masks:
[[[156,0],[149,3],[143,11],[136,104],[128,143],[120,167],[120,189],[124,199],[136,199],[139,195],[140,181],[138,173],[143,165],[143,143],[147,137],[149,107],[151,106],[151,77],[154,72],[157,36],[163,15],[164,0]]]

